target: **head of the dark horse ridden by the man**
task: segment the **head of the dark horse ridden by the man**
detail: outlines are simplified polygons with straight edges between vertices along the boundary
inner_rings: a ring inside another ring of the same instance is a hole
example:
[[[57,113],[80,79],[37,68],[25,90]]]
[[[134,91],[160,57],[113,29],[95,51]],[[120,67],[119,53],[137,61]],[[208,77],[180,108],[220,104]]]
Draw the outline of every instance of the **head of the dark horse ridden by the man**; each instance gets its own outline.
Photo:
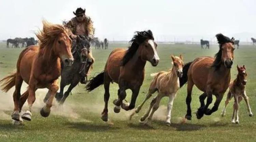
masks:
[[[76,52],[79,54],[80,61],[86,63],[90,52],[90,42],[86,36],[79,35],[76,37]]]

